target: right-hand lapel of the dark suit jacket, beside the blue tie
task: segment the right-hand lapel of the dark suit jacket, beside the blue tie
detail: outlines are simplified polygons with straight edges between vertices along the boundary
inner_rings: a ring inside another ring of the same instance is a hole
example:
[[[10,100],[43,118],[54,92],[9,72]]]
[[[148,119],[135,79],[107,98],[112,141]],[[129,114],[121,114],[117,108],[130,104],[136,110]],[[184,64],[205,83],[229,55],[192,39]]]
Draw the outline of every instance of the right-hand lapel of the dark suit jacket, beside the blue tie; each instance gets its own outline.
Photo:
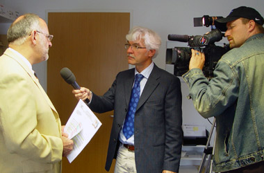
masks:
[[[149,75],[149,79],[147,80],[147,83],[145,84],[145,87],[140,96],[137,110],[142,106],[142,104],[146,102],[146,100],[149,98],[151,93],[153,93],[153,91],[156,89],[156,87],[160,83],[158,81],[158,78],[160,78],[160,75],[158,73],[158,67],[154,64],[154,68],[151,71],[151,74]]]

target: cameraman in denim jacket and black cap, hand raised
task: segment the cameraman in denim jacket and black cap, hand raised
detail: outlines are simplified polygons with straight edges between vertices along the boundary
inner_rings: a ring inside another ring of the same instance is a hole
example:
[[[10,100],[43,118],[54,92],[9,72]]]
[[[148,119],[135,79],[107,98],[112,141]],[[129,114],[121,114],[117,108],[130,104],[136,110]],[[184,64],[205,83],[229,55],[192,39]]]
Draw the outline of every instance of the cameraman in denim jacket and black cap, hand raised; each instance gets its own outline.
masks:
[[[204,118],[215,117],[214,172],[264,171],[264,19],[245,6],[215,22],[226,31],[231,51],[222,56],[208,81],[205,55],[192,50],[183,79]]]

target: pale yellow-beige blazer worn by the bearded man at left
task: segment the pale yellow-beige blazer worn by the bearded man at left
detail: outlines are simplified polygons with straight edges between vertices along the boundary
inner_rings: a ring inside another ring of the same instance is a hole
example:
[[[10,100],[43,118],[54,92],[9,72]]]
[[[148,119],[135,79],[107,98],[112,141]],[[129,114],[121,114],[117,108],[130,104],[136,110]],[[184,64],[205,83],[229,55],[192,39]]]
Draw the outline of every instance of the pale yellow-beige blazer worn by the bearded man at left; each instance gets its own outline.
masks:
[[[0,57],[0,172],[60,172],[60,118],[31,69]]]

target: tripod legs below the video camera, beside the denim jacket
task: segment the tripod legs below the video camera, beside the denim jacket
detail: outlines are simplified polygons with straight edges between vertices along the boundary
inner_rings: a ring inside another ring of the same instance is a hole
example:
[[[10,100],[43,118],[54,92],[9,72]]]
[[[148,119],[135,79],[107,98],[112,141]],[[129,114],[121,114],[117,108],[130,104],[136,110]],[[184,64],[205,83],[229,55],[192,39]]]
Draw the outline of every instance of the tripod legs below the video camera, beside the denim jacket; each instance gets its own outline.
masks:
[[[212,134],[213,134],[214,127],[215,127],[215,118],[213,118],[213,124],[212,124],[211,130],[210,130],[210,134],[208,136],[206,147],[204,149],[204,154],[203,154],[201,164],[199,167],[199,171],[198,171],[199,173],[201,173],[201,171],[203,170],[204,164],[206,163],[207,155],[208,155],[208,162],[205,166],[206,170],[204,173],[207,173],[207,172],[212,173],[213,172],[213,170],[212,170],[212,164],[213,164],[212,156],[213,156],[214,151],[215,151],[215,138],[214,138],[214,142],[213,142],[213,147],[208,147],[208,146],[209,146]]]

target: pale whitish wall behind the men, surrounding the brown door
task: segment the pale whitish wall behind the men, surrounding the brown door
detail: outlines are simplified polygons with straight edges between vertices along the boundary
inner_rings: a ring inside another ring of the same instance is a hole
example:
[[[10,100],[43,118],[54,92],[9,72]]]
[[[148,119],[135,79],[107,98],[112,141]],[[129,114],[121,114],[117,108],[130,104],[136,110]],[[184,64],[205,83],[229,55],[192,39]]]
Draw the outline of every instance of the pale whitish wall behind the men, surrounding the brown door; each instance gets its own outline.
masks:
[[[160,54],[154,62],[165,69],[165,51],[168,34],[204,35],[210,31],[206,27],[194,27],[193,18],[203,15],[226,17],[231,9],[238,6],[251,6],[264,16],[263,0],[1,0],[3,5],[19,12],[33,12],[43,19],[47,11],[132,11],[132,26],[145,26],[155,30],[162,38]],[[46,19],[47,20],[47,19]],[[6,34],[6,25],[0,24],[0,34]],[[51,33],[52,34],[52,33]],[[74,33],[69,33],[74,34]],[[56,37],[56,35],[54,36]],[[47,89],[47,63],[34,65],[42,86]],[[188,87],[183,87],[183,123],[211,127],[201,116],[197,116],[192,102],[185,96]],[[195,116],[195,121],[192,119]]]

